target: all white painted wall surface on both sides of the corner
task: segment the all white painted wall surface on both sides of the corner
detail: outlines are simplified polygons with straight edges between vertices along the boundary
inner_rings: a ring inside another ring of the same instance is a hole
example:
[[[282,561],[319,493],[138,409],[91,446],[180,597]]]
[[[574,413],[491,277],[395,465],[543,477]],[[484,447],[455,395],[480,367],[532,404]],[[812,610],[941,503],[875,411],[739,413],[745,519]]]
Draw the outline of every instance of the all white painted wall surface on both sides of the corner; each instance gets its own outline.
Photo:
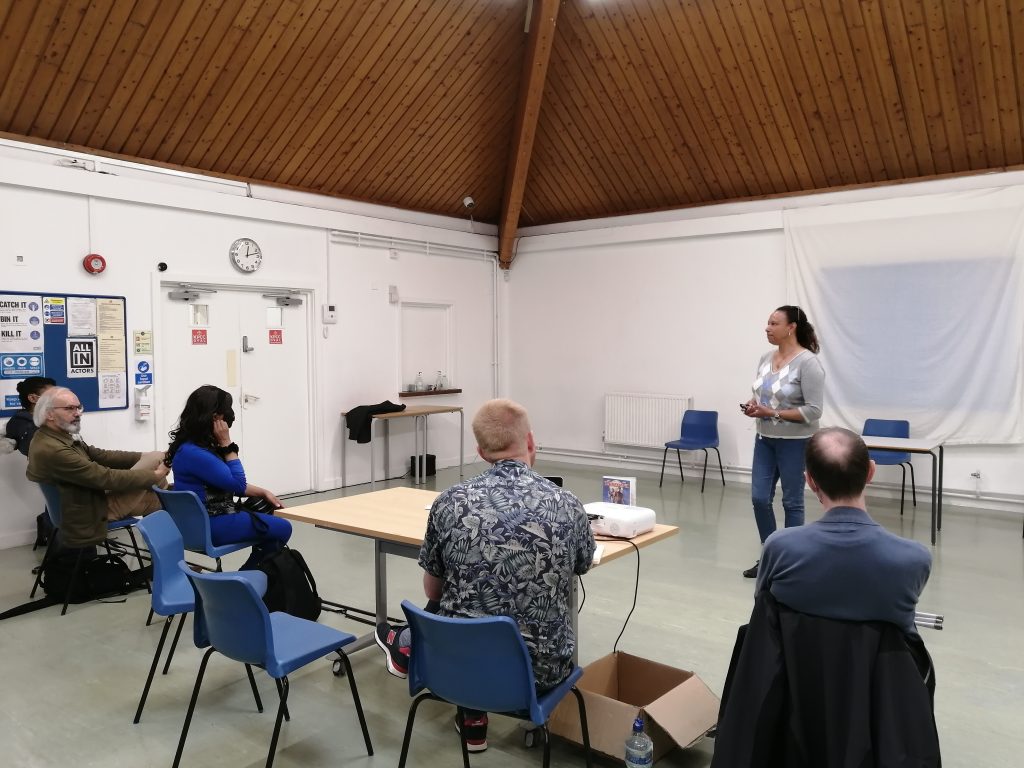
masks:
[[[696,408],[720,412],[723,461],[743,477],[753,427],[736,403],[765,348],[765,318],[787,298],[783,206],[1024,183],[1022,173],[988,174],[536,227],[522,233],[511,272],[496,278],[490,260],[438,255],[444,246],[492,251],[494,227],[244,184],[219,190],[220,182],[197,186],[185,174],[165,179],[159,171],[101,159],[93,159],[93,167],[112,175],[90,173],[55,166],[53,152],[0,141],[0,290],[125,295],[130,332],[156,325],[156,264],[165,261],[165,278],[228,285],[255,278],[261,285],[308,287],[317,305],[338,305],[338,325],[326,334],[314,328],[319,488],[340,483],[339,413],[397,400],[400,310],[388,303],[390,285],[402,299],[455,307],[456,364],[445,373],[464,392],[415,402],[460,404],[468,420],[493,396],[497,381],[498,392],[530,410],[542,446],[614,466],[613,457],[601,455],[605,392],[690,394]],[[342,245],[331,242],[331,230],[370,237]],[[228,245],[244,236],[266,254],[255,276],[240,275],[227,261]],[[418,243],[441,248],[427,255]],[[80,266],[89,252],[109,259],[98,278]],[[24,266],[13,265],[16,255],[25,257]],[[159,337],[156,342],[159,349]],[[176,375],[186,374],[156,371],[158,403],[161,377]],[[166,410],[158,409],[147,424],[137,424],[130,411],[90,414],[85,434],[103,446],[163,446],[165,422],[174,417]],[[431,418],[430,451],[441,466],[458,460],[456,424],[456,417]],[[472,459],[469,433],[466,443]],[[368,480],[366,446],[348,445],[347,481]],[[401,422],[393,429],[391,473],[401,471],[412,450],[412,424]],[[1024,498],[1022,459],[1019,445],[950,449],[946,486],[973,498],[970,473],[981,469],[986,505],[1002,500],[1017,509]],[[925,484],[927,463],[918,466]],[[0,457],[0,495],[7,500],[0,548],[31,541],[33,517],[42,509],[24,470],[20,455]],[[895,472],[883,470],[891,478]]]

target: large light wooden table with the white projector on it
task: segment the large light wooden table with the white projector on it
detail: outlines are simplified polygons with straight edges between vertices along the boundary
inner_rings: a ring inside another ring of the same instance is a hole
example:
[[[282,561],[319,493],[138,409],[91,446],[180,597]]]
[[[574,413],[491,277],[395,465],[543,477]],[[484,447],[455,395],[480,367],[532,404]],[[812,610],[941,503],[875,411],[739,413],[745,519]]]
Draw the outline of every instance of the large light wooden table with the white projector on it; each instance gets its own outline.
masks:
[[[427,530],[427,516],[430,505],[437,498],[434,490],[397,487],[359,494],[345,499],[306,504],[301,507],[287,507],[275,514],[280,517],[308,522],[322,528],[338,530],[352,536],[360,536],[374,542],[374,588],[375,625],[386,622],[387,616],[387,556],[418,558],[423,536]],[[679,532],[675,525],[655,525],[654,529],[638,536],[632,543],[625,541],[601,541],[604,553],[598,565],[616,560],[638,548],[668,539]],[[596,567],[596,566],[595,566]],[[573,580],[573,585],[575,581]],[[328,604],[331,603],[329,601]],[[577,604],[575,588],[572,590],[573,608]],[[340,606],[344,607],[344,606]],[[577,612],[572,611],[572,629],[575,627]],[[370,633],[345,646],[346,650],[359,650],[374,644]]]

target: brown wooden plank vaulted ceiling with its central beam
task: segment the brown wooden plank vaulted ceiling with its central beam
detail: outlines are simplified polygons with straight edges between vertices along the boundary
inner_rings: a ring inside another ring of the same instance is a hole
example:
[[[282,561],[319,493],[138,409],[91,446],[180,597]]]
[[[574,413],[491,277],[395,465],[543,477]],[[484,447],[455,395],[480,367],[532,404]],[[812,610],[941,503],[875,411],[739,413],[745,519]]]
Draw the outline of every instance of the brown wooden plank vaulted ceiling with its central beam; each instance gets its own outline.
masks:
[[[1021,0],[0,0],[12,138],[518,227],[1024,164]]]

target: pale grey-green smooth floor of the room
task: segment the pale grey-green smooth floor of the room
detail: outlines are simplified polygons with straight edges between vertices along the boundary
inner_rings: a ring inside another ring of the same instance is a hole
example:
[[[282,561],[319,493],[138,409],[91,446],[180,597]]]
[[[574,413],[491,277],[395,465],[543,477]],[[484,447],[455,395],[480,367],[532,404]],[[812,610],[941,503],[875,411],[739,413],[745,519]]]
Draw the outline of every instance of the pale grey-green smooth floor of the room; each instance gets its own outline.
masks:
[[[475,471],[480,465],[467,468]],[[563,474],[584,501],[597,498],[600,470],[551,463],[548,474]],[[653,507],[662,522],[682,530],[640,557],[640,598],[620,649],[693,670],[721,691],[738,625],[752,606],[751,581],[739,571],[757,555],[749,486],[723,488],[709,476],[699,480],[639,473],[640,503]],[[430,485],[457,479],[444,470]],[[392,483],[397,484],[397,483]],[[364,493],[368,486],[350,489]],[[317,501],[334,495],[294,500]],[[819,514],[808,498],[809,519]],[[924,504],[900,518],[892,502],[874,503],[872,514],[889,529],[928,542]],[[921,608],[945,614],[946,629],[924,633],[937,669],[936,711],[946,766],[1016,768],[1022,764],[1024,675],[1024,547],[1021,518],[948,506],[934,552],[932,579]],[[321,593],[348,604],[372,607],[372,547],[365,540],[297,526],[293,545],[306,557]],[[0,552],[0,610],[28,599],[30,569],[40,552],[22,547]],[[242,560],[229,559],[226,567]],[[391,559],[392,615],[403,597],[419,599],[420,573],[411,560]],[[586,603],[580,618],[581,663],[609,652],[629,611],[635,558],[603,565],[585,578]],[[0,744],[3,766],[169,766],[200,652],[188,642],[190,621],[170,674],[158,676],[139,725],[132,725],[145,672],[160,635],[144,626],[147,595],[123,603],[72,606],[68,615],[50,607],[0,623]],[[366,628],[325,614],[322,621],[353,634]],[[384,670],[376,649],[354,655],[355,678],[376,755],[362,751],[348,685],[331,674],[330,662],[309,665],[292,677],[292,722],[286,724],[275,765],[395,766],[409,707],[408,687]],[[264,699],[273,686],[260,679]],[[241,668],[214,658],[185,748],[185,766],[261,766],[272,715],[256,714]],[[514,721],[494,718],[490,748],[474,766],[539,766],[541,755],[523,749]],[[714,742],[677,750],[662,765],[696,768],[711,761]],[[553,765],[583,765],[582,752],[556,739]],[[606,764],[610,762],[605,761]],[[413,739],[412,766],[461,765],[452,712],[440,705],[421,708]]]

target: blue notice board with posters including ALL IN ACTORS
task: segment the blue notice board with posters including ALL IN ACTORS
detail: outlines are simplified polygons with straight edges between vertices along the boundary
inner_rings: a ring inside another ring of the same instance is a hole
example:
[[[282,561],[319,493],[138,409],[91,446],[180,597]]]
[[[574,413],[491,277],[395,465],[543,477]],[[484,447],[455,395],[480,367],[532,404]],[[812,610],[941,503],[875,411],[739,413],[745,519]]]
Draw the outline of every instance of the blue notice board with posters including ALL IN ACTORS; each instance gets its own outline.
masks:
[[[22,408],[17,382],[48,376],[86,411],[128,408],[124,296],[0,292],[0,417]]]

